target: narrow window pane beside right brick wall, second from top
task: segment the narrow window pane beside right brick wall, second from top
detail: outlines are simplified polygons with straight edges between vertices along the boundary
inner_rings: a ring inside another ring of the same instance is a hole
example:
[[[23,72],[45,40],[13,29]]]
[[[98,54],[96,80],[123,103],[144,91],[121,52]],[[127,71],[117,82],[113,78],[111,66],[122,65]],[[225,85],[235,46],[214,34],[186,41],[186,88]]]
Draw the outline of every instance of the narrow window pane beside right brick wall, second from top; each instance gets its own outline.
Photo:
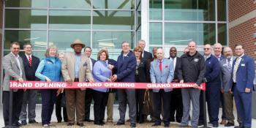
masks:
[[[227,24],[218,24],[218,42],[227,45]]]

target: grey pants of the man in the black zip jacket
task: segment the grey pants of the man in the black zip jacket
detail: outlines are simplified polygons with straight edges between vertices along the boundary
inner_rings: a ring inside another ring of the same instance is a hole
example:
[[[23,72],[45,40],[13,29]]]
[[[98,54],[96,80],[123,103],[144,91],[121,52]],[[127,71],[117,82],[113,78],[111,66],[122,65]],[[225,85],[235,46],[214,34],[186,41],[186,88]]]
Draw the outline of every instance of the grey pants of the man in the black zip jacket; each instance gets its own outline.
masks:
[[[198,118],[200,113],[200,90],[194,88],[181,89],[182,102],[183,102],[183,116],[181,124],[189,124],[189,110],[190,110],[190,101],[192,101],[192,118],[191,125],[192,127],[197,127]]]

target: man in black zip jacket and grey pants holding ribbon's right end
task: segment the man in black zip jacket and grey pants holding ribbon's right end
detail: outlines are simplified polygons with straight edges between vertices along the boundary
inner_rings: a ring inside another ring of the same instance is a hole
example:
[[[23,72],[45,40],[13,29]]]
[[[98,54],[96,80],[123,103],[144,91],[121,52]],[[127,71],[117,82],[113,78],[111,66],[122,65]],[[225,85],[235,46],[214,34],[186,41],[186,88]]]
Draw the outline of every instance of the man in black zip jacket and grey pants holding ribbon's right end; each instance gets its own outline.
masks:
[[[183,117],[179,127],[188,127],[189,124],[189,110],[190,101],[192,101],[192,118],[191,125],[193,128],[197,127],[199,118],[199,98],[200,90],[198,87],[203,82],[206,72],[205,60],[203,56],[197,52],[197,45],[195,41],[188,44],[189,52],[181,56],[181,74],[178,75],[180,83],[195,83],[193,88],[181,89],[183,102]]]

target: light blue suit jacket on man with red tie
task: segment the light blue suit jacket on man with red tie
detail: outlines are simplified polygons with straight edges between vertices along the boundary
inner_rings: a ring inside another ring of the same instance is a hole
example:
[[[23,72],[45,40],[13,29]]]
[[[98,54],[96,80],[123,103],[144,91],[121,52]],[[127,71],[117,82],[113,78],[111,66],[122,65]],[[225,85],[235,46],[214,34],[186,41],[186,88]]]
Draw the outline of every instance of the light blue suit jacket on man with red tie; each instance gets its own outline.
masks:
[[[162,72],[159,69],[159,60],[155,59],[151,62],[150,67],[151,83],[170,83],[173,80],[173,61],[169,59],[162,59]],[[165,92],[173,89],[165,89]],[[158,92],[159,89],[153,89]]]

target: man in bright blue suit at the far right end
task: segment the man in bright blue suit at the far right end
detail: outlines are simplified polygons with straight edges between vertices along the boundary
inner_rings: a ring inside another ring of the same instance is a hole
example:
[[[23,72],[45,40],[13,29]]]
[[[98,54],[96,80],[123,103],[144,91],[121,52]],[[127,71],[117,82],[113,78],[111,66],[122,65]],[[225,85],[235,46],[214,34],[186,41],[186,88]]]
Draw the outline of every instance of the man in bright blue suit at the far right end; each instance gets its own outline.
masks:
[[[232,80],[233,91],[238,116],[242,123],[239,127],[252,127],[252,91],[255,78],[255,63],[250,56],[244,54],[242,45],[236,45],[237,58],[233,61]]]

